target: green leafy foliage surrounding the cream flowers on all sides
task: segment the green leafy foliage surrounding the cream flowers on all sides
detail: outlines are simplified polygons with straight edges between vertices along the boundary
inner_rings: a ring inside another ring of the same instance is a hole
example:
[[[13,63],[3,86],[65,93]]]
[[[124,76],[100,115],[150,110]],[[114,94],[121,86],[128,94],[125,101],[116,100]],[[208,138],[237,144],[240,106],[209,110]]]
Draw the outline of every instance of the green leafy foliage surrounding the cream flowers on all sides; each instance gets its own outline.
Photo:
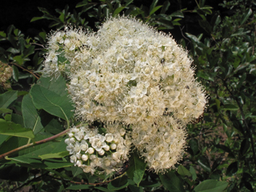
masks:
[[[26,186],[28,191],[256,189],[254,1],[216,5],[205,0],[84,0],[73,11],[67,5],[55,12],[47,7],[38,9],[39,16],[33,15],[31,22],[46,23],[49,28],[39,27],[31,37],[15,26],[0,32],[0,154],[26,146],[0,156],[0,190],[24,190]],[[129,166],[105,181],[104,175],[85,174],[69,161],[63,131],[74,122],[70,112],[74,106],[65,90],[66,82],[39,77],[50,30],[69,24],[96,30],[106,18],[117,14],[132,15],[174,34],[194,59],[195,73],[206,88],[209,103],[202,121],[187,127],[188,148],[177,170],[148,172],[134,152]],[[8,66],[11,68],[4,70]]]

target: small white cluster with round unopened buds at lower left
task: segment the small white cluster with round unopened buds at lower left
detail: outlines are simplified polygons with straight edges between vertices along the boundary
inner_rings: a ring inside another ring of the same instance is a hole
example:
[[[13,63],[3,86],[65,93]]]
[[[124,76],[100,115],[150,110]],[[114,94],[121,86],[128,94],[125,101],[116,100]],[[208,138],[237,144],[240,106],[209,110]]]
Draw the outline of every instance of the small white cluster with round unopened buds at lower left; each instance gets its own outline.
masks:
[[[106,130],[110,131],[111,126]],[[126,130],[123,128],[102,135],[98,134],[97,129],[74,126],[68,133],[69,138],[65,140],[66,150],[71,154],[70,162],[91,174],[94,174],[95,170],[101,173],[106,171],[106,174],[117,171],[128,160],[130,140],[124,138],[125,134]]]

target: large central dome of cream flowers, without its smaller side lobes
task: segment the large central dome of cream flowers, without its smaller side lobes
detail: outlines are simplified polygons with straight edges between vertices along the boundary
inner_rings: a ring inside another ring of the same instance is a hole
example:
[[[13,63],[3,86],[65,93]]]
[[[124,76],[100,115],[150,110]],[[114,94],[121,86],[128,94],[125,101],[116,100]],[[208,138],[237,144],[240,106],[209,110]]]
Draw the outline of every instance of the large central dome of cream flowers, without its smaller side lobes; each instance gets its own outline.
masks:
[[[70,74],[78,118],[136,124],[172,114],[185,125],[203,113],[206,96],[191,59],[170,35],[120,17],[87,38],[98,54]]]

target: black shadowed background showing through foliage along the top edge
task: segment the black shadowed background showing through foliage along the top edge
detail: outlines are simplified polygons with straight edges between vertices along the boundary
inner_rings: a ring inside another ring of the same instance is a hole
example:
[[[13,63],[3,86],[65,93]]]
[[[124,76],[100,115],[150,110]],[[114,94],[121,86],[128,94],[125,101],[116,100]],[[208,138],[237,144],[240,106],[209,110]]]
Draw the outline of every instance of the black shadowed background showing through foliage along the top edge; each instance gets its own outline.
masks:
[[[6,0],[4,1],[5,4],[0,6],[0,30],[6,31],[7,27],[10,25],[14,25],[19,30],[22,30],[22,33],[25,34],[25,36],[34,37],[36,36],[40,31],[46,30],[46,32],[50,31],[50,28],[48,27],[50,22],[46,19],[41,19],[35,22],[30,22],[30,20],[34,17],[40,17],[42,16],[42,12],[38,10],[38,7],[46,8],[50,14],[53,14],[55,16],[58,16],[55,9],[63,10],[66,5],[70,6],[69,11],[73,13],[73,10],[75,9],[77,12],[82,10],[81,7],[75,8],[75,6],[78,4],[78,2],[82,2],[82,0],[42,0],[42,1],[36,1],[36,0]],[[93,1],[93,2],[100,2],[100,1]],[[152,1],[148,0],[135,0],[133,3],[136,6],[148,6],[150,7]],[[162,5],[165,1],[158,1],[158,5]],[[179,3],[181,2],[181,4]],[[199,2],[199,0],[198,0]],[[218,6],[219,3],[223,2],[222,0],[206,0],[207,6],[212,6],[213,12],[218,11],[219,14],[225,16],[226,14],[230,14],[226,12],[226,10],[222,9],[222,6]],[[187,8],[187,10],[194,10],[194,8],[197,6],[195,0],[170,0],[170,8],[167,11],[166,14],[171,14],[176,10],[181,10],[184,8]],[[82,15],[86,18],[86,13]],[[191,34],[200,34],[202,33],[202,28],[198,26],[198,15],[194,13],[185,13],[185,18],[182,19],[181,24],[186,24],[184,27],[183,32],[190,32]],[[212,17],[212,15],[208,16]],[[86,18],[87,21],[91,24],[91,26],[94,26],[91,18]],[[53,29],[54,30],[54,29]],[[176,26],[174,30],[166,31],[171,32],[175,36],[177,36],[178,39],[182,38],[182,36],[179,34],[180,32],[179,27]]]

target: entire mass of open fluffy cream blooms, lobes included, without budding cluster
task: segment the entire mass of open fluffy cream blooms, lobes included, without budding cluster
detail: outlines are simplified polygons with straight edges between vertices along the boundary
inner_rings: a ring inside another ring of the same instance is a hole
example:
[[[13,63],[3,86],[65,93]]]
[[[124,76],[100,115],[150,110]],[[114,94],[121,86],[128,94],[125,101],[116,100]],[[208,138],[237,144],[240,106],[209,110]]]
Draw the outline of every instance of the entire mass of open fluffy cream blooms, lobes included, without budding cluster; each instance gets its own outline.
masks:
[[[70,79],[77,118],[130,125],[131,142],[158,172],[181,158],[184,127],[206,106],[191,62],[170,35],[119,17],[97,34],[54,33],[44,72]]]

